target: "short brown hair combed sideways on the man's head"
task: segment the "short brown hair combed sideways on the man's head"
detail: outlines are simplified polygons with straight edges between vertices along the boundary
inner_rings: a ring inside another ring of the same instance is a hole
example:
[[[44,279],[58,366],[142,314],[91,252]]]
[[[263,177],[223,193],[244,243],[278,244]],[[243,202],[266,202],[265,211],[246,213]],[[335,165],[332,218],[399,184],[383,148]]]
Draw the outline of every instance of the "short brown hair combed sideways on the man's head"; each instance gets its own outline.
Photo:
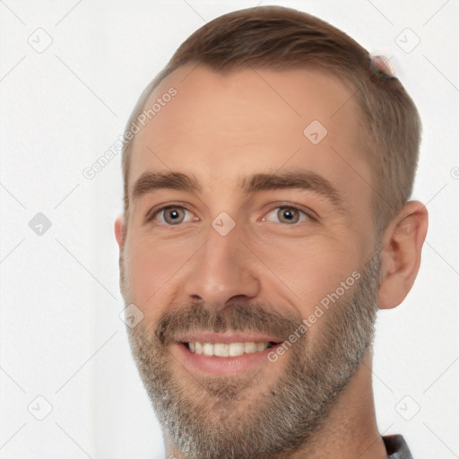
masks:
[[[206,65],[220,73],[254,67],[286,70],[316,67],[350,82],[363,113],[359,139],[371,161],[373,223],[377,233],[410,198],[419,157],[418,110],[402,83],[370,65],[365,48],[315,16],[281,6],[224,14],[196,30],[145,88],[126,130],[143,112],[152,91],[182,65]],[[305,126],[306,127],[306,126]],[[134,139],[123,147],[125,215]]]

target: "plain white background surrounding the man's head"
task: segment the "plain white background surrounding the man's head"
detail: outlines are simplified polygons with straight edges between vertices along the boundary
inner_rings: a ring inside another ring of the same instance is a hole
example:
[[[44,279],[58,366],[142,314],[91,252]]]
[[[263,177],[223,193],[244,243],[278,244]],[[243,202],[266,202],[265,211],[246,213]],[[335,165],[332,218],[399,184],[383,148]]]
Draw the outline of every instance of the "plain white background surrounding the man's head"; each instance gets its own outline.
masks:
[[[2,459],[163,456],[118,317],[120,155],[91,180],[82,170],[116,142],[144,86],[184,39],[256,4],[0,1]],[[429,233],[413,289],[378,318],[377,421],[385,435],[402,433],[416,459],[459,457],[459,5],[276,4],[316,14],[392,57],[420,110],[412,198],[427,204]],[[420,44],[406,52],[416,36]],[[29,226],[38,212],[52,224],[40,236]],[[48,403],[52,411],[37,420]]]

